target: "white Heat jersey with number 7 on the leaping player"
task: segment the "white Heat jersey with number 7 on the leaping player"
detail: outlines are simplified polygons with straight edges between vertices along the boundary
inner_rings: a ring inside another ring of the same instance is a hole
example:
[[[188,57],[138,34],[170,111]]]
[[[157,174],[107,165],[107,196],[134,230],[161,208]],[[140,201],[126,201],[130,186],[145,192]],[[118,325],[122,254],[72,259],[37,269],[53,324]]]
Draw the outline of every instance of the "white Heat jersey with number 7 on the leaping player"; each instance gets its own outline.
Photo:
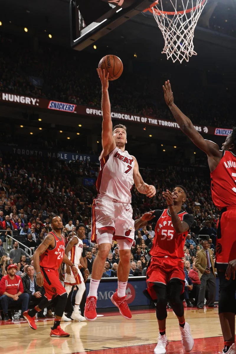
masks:
[[[117,203],[130,204],[134,164],[132,156],[117,147],[101,158],[96,182],[98,194]]]

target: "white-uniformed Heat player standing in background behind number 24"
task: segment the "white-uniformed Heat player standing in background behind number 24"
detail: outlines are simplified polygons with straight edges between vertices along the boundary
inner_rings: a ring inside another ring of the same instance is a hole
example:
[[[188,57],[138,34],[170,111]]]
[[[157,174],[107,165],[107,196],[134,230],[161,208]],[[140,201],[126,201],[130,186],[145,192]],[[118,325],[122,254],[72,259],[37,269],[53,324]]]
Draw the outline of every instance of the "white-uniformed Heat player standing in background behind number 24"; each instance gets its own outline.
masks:
[[[78,270],[78,274],[76,278],[73,277],[73,273],[70,271],[70,267],[67,267],[65,264],[65,279],[64,279],[64,284],[65,284],[65,290],[67,291],[67,294],[69,295],[72,287],[76,285],[78,290],[75,295],[75,307],[74,311],[71,314],[71,318],[73,320],[78,320],[78,321],[85,321],[85,318],[80,314],[80,302],[82,299],[82,296],[85,292],[85,282],[82,277],[82,274],[80,272],[80,268],[83,267],[85,270],[85,278],[88,278],[89,272],[88,269],[86,269],[86,265],[84,262],[84,258],[82,256],[83,252],[83,242],[82,238],[83,235],[85,234],[85,225],[84,224],[79,224],[76,227],[77,235],[74,235],[71,237],[70,241],[68,242],[67,246],[65,247],[65,254],[67,257],[71,260],[71,262],[75,265],[75,267]],[[63,314],[63,320],[65,321],[71,321],[69,318]]]

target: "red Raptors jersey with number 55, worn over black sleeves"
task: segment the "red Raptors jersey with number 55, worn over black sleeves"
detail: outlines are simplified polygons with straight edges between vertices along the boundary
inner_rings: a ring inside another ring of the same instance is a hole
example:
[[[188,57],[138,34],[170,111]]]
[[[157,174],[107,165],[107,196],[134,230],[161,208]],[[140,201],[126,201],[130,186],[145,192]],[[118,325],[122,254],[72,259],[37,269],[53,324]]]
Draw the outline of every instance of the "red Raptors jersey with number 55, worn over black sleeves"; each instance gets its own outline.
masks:
[[[183,234],[177,234],[175,232],[169,209],[155,210],[154,215],[156,218],[152,219],[152,221],[157,220],[157,223],[150,255],[154,257],[168,256],[172,258],[183,258],[183,248],[188,231]],[[188,223],[189,228],[194,222],[194,217],[185,211],[180,211],[178,216],[181,221]]]

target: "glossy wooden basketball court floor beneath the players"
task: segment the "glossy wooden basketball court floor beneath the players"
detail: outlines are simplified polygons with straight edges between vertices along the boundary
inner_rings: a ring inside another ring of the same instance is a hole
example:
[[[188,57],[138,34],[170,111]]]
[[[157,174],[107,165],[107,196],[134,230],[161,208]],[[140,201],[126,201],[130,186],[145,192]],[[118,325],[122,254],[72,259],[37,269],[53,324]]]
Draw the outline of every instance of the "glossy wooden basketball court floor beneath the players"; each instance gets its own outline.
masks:
[[[185,309],[195,345],[191,354],[217,354],[222,352],[223,337],[218,309]],[[36,322],[31,330],[26,321],[0,323],[0,351],[7,354],[146,354],[153,353],[158,336],[154,310],[133,311],[126,320],[119,313],[104,314],[94,322],[62,322],[69,338],[51,338],[51,320]],[[185,353],[178,320],[168,311],[166,333],[170,341],[167,353]]]

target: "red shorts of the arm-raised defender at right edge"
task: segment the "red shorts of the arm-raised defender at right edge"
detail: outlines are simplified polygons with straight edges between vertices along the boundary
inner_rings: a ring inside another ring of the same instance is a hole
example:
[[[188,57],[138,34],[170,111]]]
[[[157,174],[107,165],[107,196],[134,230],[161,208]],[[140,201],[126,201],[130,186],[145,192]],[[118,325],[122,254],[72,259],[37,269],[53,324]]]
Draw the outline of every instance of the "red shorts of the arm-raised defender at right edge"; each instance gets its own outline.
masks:
[[[216,263],[217,267],[227,264],[236,258],[236,206],[229,206],[218,223]]]

